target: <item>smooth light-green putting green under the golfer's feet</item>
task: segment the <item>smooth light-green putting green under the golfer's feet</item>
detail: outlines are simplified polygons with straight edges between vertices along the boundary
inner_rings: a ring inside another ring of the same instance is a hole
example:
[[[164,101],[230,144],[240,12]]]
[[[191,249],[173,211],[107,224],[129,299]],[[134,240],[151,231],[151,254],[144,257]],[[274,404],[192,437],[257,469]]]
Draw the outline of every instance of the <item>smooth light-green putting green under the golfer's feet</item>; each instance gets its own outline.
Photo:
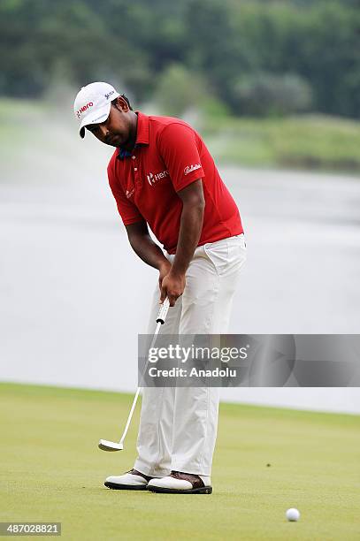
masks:
[[[131,400],[0,385],[0,521],[62,522],[77,541],[360,538],[359,415],[222,404],[211,496],[111,491],[104,477],[133,466],[138,415],[124,451],[97,440],[119,438]]]

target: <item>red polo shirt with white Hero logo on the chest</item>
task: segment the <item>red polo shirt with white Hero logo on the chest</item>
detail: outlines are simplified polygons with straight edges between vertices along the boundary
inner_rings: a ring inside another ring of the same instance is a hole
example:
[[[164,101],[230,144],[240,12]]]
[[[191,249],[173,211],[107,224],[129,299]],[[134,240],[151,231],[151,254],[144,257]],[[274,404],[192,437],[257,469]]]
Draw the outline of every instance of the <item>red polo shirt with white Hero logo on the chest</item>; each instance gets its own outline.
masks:
[[[203,179],[205,210],[198,246],[239,235],[239,210],[198,133],[179,118],[138,112],[135,148],[116,149],[108,165],[112,194],[125,225],[146,220],[169,254],[176,252],[182,202],[177,194]]]

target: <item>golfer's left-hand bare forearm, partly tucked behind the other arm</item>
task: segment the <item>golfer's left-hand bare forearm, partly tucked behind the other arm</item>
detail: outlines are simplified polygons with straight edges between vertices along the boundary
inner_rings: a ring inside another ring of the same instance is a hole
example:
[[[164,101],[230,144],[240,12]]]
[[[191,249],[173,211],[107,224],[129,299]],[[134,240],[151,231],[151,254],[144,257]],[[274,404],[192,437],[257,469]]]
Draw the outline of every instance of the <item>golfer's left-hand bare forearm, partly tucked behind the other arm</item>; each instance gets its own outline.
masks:
[[[151,239],[148,224],[145,220],[126,225],[127,237],[136,255],[143,262],[159,270],[159,287],[163,278],[168,274],[172,264],[166,259],[162,249]]]

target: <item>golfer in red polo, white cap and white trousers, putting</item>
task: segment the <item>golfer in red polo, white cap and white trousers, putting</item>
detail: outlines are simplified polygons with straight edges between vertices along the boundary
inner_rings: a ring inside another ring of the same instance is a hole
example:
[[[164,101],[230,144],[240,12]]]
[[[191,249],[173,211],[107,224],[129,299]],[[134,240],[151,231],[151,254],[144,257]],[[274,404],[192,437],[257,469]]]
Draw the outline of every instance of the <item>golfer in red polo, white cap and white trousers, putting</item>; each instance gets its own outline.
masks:
[[[105,82],[81,88],[74,112],[81,137],[88,130],[115,147],[108,177],[128,240],[158,270],[148,333],[166,297],[172,308],[162,332],[226,333],[246,245],[239,210],[201,136],[179,118],[134,111]],[[211,493],[218,400],[213,387],[145,388],[134,469],[105,485]]]

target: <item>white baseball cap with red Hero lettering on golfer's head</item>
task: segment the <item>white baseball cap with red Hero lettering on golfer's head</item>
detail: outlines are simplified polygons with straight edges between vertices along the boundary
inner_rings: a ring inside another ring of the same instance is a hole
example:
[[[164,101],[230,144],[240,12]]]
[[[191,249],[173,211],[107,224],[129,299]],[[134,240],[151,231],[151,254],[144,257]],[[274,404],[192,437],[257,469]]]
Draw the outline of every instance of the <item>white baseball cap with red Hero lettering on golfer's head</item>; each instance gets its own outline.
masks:
[[[85,126],[100,124],[109,117],[111,101],[118,96],[109,83],[95,82],[81,88],[73,103],[75,118],[80,121],[80,137],[85,136]]]

